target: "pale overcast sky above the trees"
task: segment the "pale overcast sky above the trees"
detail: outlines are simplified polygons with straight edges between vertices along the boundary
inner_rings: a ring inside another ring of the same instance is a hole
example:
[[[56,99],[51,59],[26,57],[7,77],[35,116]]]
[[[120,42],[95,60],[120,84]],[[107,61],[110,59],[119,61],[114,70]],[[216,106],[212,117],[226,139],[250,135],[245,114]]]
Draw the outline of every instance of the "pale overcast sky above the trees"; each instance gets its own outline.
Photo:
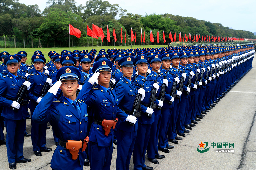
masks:
[[[104,1],[104,0],[103,0]],[[110,4],[118,3],[120,7],[132,14],[173,14],[185,17],[193,17],[199,20],[221,23],[224,27],[232,27],[236,30],[256,32],[255,0],[108,0]],[[19,0],[26,5],[34,5],[34,0]],[[47,6],[47,0],[37,3],[41,11]],[[77,6],[85,6],[85,0],[76,0]]]

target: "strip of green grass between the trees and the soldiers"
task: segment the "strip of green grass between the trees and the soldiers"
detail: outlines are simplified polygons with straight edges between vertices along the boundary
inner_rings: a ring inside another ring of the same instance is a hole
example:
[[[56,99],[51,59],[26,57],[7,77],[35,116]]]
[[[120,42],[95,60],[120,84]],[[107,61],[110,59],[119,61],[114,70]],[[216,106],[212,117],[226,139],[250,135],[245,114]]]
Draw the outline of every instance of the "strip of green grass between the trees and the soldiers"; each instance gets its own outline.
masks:
[[[163,47],[161,45],[147,45],[147,46],[132,46],[132,48],[157,48],[157,47]],[[167,45],[165,45],[164,47],[167,47]],[[28,53],[28,57],[27,57],[27,61],[26,64],[30,65],[31,63],[31,57],[33,56],[34,51],[36,50],[40,50],[42,51],[42,53],[44,54],[46,61],[50,60],[50,58],[48,57],[48,53],[49,51],[56,51],[57,53],[61,53],[62,50],[68,50],[68,51],[74,51],[74,50],[88,50],[90,51],[91,49],[96,49],[97,51],[101,50],[101,49],[109,49],[109,48],[114,48],[114,46],[97,46],[97,47],[63,47],[63,48],[0,48],[0,53],[2,51],[7,51],[9,52],[11,55],[13,54],[17,54],[19,51],[26,51]],[[131,48],[131,46],[116,46],[115,48],[119,48],[119,49],[129,49]]]

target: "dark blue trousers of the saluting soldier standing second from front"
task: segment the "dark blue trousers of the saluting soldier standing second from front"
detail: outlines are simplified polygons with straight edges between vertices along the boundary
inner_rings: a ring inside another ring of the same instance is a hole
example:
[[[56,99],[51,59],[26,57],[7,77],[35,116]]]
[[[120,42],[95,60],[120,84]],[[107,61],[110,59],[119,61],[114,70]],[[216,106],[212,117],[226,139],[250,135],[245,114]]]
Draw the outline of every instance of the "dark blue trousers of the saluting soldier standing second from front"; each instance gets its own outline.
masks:
[[[109,170],[113,153],[113,144],[98,146],[95,142],[88,142],[88,156],[91,170]]]

